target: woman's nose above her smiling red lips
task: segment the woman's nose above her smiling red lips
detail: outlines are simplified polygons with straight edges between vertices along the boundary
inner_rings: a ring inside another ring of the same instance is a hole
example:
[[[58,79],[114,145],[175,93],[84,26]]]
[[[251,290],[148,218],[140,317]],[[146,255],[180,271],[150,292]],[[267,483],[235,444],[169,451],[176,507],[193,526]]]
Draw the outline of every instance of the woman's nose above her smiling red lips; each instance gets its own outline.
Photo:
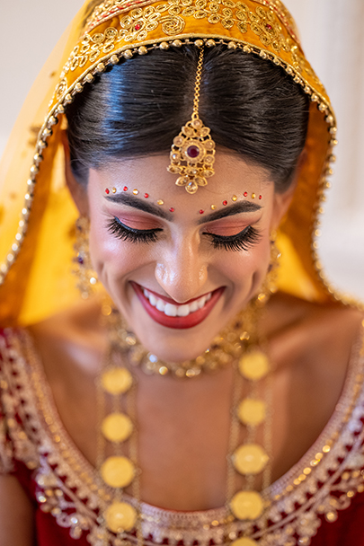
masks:
[[[199,252],[199,242],[182,239],[164,251],[156,263],[155,278],[165,294],[179,304],[203,294],[208,264]]]

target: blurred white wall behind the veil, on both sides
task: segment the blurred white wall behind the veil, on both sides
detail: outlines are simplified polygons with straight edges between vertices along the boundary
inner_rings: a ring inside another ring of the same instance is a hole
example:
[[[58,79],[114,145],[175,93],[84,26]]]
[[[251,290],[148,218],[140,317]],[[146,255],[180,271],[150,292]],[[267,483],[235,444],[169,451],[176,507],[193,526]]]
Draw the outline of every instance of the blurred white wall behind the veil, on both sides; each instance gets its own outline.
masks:
[[[82,4],[1,2],[0,154],[33,79]],[[364,299],[364,0],[286,0],[286,5],[339,125],[321,253],[333,281]]]

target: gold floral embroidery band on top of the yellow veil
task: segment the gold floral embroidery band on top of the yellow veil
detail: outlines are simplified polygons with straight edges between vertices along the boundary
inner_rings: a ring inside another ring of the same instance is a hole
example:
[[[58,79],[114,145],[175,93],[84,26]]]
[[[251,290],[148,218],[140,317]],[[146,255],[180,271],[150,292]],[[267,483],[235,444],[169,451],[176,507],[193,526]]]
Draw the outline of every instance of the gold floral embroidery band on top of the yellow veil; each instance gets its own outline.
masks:
[[[233,0],[213,0],[209,5],[206,0],[169,0],[167,4],[159,4],[156,7],[146,5],[131,10],[121,17],[119,30],[108,27],[103,33],[84,34],[83,40],[75,46],[67,60],[62,79],[67,72],[83,67],[87,62],[95,62],[102,54],[111,53],[121,40],[127,43],[146,40],[149,32],[155,31],[158,25],[162,25],[166,37],[180,34],[185,27],[183,18],[187,17],[195,19],[206,17],[211,24],[220,22],[226,30],[236,25],[242,38],[250,26],[259,36],[262,45],[265,48],[271,47],[275,53],[280,53],[281,49],[289,52],[293,48],[293,41],[284,38],[280,21],[270,9],[257,6],[251,11],[244,2]],[[302,68],[307,66],[306,59],[303,56],[298,57],[296,49],[297,46],[293,51],[292,62],[295,62],[302,71]],[[61,81],[58,84],[57,96],[60,97],[64,91],[65,83]]]

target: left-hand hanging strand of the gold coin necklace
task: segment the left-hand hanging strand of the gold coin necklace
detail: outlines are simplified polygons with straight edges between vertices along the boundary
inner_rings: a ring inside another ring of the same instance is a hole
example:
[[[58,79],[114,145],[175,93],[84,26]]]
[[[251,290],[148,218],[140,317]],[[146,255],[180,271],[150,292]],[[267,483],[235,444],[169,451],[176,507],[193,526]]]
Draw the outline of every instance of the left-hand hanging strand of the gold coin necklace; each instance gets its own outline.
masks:
[[[119,354],[118,354],[119,353]],[[114,544],[123,543],[125,533],[137,527],[138,543],[141,544],[138,439],[135,416],[136,380],[123,365],[120,351],[111,343],[106,365],[97,378],[96,392],[99,414],[99,437],[96,466],[106,485],[113,489],[113,499],[100,515],[101,534],[109,544],[106,529],[115,533]],[[106,413],[111,399],[111,412]],[[112,454],[105,457],[106,445]],[[129,449],[127,451],[127,445]],[[125,500],[123,489],[132,484],[136,506]],[[106,527],[106,529],[105,529]]]

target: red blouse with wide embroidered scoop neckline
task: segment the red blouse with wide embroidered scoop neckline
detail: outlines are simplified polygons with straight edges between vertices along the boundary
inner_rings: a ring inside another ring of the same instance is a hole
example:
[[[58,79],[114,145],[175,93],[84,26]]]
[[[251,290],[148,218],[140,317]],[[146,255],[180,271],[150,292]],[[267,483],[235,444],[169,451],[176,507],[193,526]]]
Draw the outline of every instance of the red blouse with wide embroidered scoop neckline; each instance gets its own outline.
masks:
[[[141,503],[144,543],[227,545],[246,534],[264,546],[364,546],[363,378],[360,339],[332,418],[265,491],[271,504],[258,520],[226,524],[225,507],[175,512]],[[112,490],[62,427],[25,331],[0,331],[0,387],[0,471],[16,476],[31,498],[37,545],[125,543],[103,525]],[[124,539],[137,542],[135,533]]]

